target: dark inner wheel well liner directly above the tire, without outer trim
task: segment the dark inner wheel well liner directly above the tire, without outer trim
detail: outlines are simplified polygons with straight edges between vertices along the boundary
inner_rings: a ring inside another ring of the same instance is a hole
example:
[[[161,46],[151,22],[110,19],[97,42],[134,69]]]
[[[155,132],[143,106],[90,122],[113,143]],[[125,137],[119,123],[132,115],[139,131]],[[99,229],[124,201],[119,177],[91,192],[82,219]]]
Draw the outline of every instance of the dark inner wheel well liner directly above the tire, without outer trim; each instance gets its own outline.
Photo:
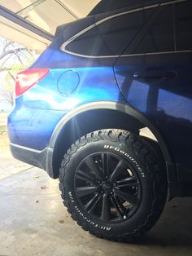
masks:
[[[60,130],[55,141],[53,156],[53,171],[55,178],[59,176],[59,166],[63,155],[67,152],[72,143],[83,135],[94,130],[121,129],[139,133],[139,130],[146,127],[135,117],[112,109],[94,109],[79,113],[72,117]]]

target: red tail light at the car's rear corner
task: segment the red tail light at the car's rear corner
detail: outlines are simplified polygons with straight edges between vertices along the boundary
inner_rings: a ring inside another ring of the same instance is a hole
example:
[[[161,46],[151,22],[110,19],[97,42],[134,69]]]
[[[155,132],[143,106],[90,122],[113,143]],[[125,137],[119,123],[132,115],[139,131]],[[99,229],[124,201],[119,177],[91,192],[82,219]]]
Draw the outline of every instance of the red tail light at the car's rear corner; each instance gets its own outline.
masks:
[[[43,77],[50,72],[48,68],[27,69],[21,71],[16,76],[15,96],[18,97],[39,82]]]

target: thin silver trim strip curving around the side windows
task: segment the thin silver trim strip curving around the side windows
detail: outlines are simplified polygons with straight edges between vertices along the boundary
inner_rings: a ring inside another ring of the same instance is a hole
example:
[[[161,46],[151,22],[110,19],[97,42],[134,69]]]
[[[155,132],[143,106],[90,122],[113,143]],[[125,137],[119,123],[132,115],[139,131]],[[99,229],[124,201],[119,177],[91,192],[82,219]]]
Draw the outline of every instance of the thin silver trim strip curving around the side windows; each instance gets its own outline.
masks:
[[[73,52],[73,51],[68,51],[66,49],[66,47],[68,46],[68,44],[70,44],[71,42],[76,40],[76,38],[79,38],[82,34],[88,32],[90,29],[93,29],[94,27],[97,27],[99,24],[103,24],[107,20],[111,20],[111,19],[114,19],[114,18],[119,17],[121,15],[127,15],[129,13],[133,13],[133,12],[137,12],[137,11],[148,10],[148,9],[152,9],[152,8],[155,8],[155,7],[164,7],[164,6],[174,4],[174,3],[177,3],[177,2],[187,2],[187,1],[188,0],[175,0],[175,1],[170,1],[170,2],[155,3],[155,4],[153,4],[151,6],[148,6],[148,7],[140,7],[140,8],[137,8],[137,9],[120,12],[120,13],[117,13],[115,15],[110,15],[106,18],[103,18],[102,20],[98,20],[94,24],[89,25],[85,29],[82,29],[79,33],[76,33],[74,36],[72,36],[72,38],[69,38],[66,42],[63,42],[63,44],[60,46],[60,50],[65,52],[65,53],[68,53],[70,55],[75,55],[75,56],[78,56],[78,57],[89,58],[89,59],[117,58],[120,55],[83,55],[83,54],[79,54],[79,53],[76,53],[76,52]],[[176,52],[183,52],[183,51],[151,52],[151,53],[141,53],[141,54],[131,54],[131,55],[122,54],[121,56],[126,57],[126,56],[134,56],[134,55],[155,55],[155,54],[176,53]],[[184,52],[191,52],[191,51],[184,51]]]

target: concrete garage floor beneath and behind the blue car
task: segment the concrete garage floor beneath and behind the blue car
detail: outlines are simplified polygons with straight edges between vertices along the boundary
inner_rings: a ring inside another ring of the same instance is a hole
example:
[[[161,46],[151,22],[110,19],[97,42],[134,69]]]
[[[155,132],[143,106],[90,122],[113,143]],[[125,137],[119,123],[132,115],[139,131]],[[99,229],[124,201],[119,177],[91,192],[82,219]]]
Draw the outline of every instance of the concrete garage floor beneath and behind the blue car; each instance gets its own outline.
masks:
[[[81,230],[63,207],[58,180],[0,154],[0,255],[192,255],[192,199],[174,199],[137,244]]]

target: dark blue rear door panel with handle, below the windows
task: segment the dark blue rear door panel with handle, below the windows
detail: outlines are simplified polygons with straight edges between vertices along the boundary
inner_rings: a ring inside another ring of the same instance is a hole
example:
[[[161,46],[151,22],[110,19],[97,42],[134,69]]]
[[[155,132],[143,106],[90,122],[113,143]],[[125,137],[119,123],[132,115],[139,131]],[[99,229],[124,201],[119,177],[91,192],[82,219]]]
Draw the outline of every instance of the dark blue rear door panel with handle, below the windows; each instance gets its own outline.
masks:
[[[139,56],[122,57],[114,68],[127,103],[155,122],[174,161],[188,169],[192,169],[190,58],[188,52],[148,55],[144,61]],[[159,77],[150,77],[154,72]],[[135,77],[135,73],[141,77]]]

